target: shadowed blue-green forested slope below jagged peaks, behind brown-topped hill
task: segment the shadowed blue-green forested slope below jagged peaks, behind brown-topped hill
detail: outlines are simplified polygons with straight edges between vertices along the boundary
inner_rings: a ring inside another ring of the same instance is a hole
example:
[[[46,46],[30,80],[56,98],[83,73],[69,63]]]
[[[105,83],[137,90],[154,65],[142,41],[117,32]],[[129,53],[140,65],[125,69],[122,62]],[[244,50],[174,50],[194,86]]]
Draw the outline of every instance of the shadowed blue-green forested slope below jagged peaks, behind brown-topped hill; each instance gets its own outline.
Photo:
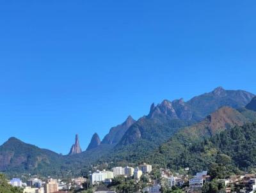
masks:
[[[102,157],[102,161],[111,161],[114,165],[136,162],[167,141],[179,128],[192,123],[193,121],[170,120],[165,116],[141,118],[129,128],[120,143]]]

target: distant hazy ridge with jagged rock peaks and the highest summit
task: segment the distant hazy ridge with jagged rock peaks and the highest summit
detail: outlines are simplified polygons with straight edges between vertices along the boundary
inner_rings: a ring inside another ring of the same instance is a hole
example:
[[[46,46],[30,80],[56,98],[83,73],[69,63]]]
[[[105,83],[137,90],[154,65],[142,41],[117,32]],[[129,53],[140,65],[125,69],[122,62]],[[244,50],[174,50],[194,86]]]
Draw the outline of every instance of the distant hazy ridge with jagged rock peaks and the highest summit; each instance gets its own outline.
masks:
[[[211,112],[220,107],[228,106],[232,108],[244,107],[252,98],[252,93],[242,90],[225,90],[222,87],[215,88],[209,93],[195,96],[188,102],[179,100],[163,100],[161,104],[150,107],[148,118],[168,116],[171,119],[200,121]]]

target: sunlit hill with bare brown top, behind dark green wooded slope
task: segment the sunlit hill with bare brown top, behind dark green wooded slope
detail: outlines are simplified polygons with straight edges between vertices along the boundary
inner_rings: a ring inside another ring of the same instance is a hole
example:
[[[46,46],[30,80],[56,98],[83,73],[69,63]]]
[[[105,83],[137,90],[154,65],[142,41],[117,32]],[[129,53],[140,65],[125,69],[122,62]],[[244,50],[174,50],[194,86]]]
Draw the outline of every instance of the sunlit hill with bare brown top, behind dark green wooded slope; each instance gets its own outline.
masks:
[[[248,114],[250,114],[250,118],[246,117]],[[189,154],[189,148],[192,144],[200,144],[201,141],[227,128],[251,123],[255,118],[256,112],[254,111],[243,109],[243,111],[239,112],[230,107],[222,107],[210,116],[207,116],[207,118],[200,123],[179,130],[168,142],[162,144],[158,150],[150,154],[145,160],[152,160],[154,164],[160,164],[163,167],[170,167],[175,170],[189,167],[190,164],[188,160],[184,160],[184,157]],[[211,151],[214,151],[214,149]],[[196,157],[194,159],[196,159]],[[192,162],[195,163],[194,160]],[[196,162],[200,162],[200,159]],[[200,163],[196,163],[195,166],[190,166],[191,171],[200,171],[200,169],[202,169],[202,162]]]

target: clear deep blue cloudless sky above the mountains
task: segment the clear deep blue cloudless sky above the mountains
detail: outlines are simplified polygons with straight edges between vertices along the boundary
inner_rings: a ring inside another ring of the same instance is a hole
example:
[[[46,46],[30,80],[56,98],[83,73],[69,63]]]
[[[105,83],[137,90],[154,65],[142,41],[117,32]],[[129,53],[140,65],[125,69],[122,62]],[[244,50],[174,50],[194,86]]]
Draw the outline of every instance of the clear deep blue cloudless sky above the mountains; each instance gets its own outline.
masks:
[[[0,143],[68,153],[152,102],[256,93],[255,1],[1,1]]]

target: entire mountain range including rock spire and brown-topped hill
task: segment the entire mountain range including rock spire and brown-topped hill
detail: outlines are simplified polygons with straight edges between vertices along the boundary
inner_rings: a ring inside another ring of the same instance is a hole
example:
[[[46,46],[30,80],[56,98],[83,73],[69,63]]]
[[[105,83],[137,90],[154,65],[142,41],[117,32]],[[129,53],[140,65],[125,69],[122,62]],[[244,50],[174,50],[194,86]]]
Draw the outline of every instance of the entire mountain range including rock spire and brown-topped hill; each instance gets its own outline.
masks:
[[[143,161],[177,168],[180,163],[177,159],[183,150],[188,150],[189,144],[255,121],[255,101],[252,93],[221,87],[188,102],[182,98],[163,100],[161,104],[152,104],[148,115],[137,121],[128,116],[124,123],[111,128],[102,141],[94,134],[86,151],[81,151],[76,135],[69,155],[59,155],[11,137],[0,146],[0,171],[10,175],[66,176],[78,175],[88,166],[104,162]]]

